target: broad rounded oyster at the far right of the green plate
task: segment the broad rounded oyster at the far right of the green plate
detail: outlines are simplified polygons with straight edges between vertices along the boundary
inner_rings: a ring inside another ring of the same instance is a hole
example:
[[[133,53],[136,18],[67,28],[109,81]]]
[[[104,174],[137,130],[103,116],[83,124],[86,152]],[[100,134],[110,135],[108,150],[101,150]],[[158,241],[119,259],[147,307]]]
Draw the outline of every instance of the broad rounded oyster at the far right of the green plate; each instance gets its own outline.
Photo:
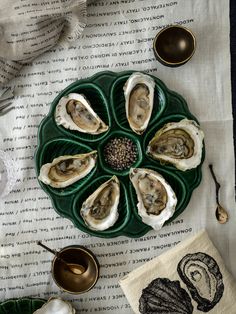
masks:
[[[170,122],[149,142],[147,153],[154,159],[171,163],[185,171],[200,164],[203,138],[202,130],[193,120]]]

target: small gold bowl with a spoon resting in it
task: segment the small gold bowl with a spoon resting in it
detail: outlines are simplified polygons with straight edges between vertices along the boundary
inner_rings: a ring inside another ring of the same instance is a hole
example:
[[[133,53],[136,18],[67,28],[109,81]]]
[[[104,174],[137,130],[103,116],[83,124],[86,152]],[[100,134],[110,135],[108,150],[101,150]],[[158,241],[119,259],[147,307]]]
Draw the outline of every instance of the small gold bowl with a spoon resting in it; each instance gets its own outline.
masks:
[[[52,276],[58,287],[72,294],[89,291],[99,277],[99,263],[94,254],[79,245],[67,246],[59,254],[68,264],[82,265],[85,271],[80,275],[74,274],[68,270],[65,263],[55,257],[52,261]]]

